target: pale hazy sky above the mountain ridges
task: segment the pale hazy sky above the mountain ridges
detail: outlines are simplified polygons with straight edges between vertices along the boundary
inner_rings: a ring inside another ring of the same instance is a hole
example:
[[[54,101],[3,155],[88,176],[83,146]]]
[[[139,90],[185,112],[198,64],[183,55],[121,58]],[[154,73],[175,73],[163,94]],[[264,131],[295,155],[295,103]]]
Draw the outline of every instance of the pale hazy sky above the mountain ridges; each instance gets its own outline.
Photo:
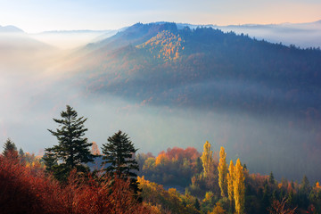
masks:
[[[320,11],[320,0],[0,0],[0,25],[37,33],[119,29],[139,21],[268,24],[318,21]]]

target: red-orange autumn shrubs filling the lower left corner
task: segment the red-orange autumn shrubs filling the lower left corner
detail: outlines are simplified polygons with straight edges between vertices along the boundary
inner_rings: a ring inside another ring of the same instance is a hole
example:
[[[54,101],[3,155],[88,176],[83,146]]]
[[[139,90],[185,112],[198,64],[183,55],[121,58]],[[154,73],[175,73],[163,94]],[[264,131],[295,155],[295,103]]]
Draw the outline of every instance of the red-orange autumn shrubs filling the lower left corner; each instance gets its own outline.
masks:
[[[26,167],[16,157],[0,155],[0,213],[150,213],[136,202],[129,182],[79,178],[72,172],[61,185],[39,167]]]

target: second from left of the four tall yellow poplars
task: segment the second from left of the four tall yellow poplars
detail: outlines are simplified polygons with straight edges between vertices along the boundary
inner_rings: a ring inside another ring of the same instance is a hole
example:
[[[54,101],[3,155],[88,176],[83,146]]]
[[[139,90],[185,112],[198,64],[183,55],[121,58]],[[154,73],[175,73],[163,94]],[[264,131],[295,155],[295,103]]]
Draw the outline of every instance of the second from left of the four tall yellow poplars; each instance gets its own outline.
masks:
[[[218,185],[221,190],[222,197],[227,196],[227,166],[226,166],[226,152],[223,146],[219,151],[219,163],[218,163]]]

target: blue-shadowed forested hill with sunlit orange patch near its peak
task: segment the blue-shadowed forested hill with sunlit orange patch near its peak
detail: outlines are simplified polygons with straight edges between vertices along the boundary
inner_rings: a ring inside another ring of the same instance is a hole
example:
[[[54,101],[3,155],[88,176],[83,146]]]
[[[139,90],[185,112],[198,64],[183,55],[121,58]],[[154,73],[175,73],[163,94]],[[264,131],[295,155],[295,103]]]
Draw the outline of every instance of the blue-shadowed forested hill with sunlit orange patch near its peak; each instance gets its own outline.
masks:
[[[320,110],[319,49],[218,29],[138,23],[85,50],[90,63],[81,77],[91,92],[210,110]]]

